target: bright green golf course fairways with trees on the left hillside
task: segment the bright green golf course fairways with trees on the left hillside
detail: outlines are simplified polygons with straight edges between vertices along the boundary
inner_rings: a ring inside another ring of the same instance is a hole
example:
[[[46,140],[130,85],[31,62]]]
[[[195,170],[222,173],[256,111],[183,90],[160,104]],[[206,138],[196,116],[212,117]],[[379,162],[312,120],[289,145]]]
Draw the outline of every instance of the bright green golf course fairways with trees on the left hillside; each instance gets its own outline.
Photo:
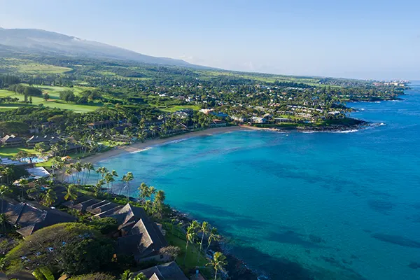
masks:
[[[7,111],[7,110],[14,109],[13,107],[34,106],[34,105],[43,104],[43,106],[46,106],[46,107],[66,109],[66,110],[71,110],[78,113],[86,113],[86,112],[94,111],[102,106],[102,103],[96,103],[95,105],[81,105],[81,104],[71,104],[71,103],[62,102],[62,100],[59,100],[58,98],[59,91],[65,90],[68,87],[59,87],[59,90],[55,87],[51,87],[51,88],[55,92],[51,94],[50,92],[48,92],[48,94],[50,94],[50,100],[48,101],[45,101],[42,97],[32,97],[32,104],[1,104],[0,110]],[[85,88],[85,87],[81,87],[81,88]],[[76,90],[79,90],[79,92],[82,91],[80,87],[76,87]],[[10,92],[9,90],[0,90],[0,97],[6,97],[6,96],[17,97],[19,98],[19,100],[22,100],[22,101],[24,100],[23,94],[16,94],[15,92]]]

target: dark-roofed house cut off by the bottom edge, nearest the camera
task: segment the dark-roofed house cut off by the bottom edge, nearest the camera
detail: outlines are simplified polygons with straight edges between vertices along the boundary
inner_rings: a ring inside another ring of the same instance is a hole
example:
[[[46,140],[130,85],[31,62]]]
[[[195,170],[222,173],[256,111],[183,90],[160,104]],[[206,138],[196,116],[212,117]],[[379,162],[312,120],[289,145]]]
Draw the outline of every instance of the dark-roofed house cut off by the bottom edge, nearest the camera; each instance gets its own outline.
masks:
[[[168,262],[162,265],[155,265],[134,273],[143,273],[149,280],[188,280],[176,262]]]

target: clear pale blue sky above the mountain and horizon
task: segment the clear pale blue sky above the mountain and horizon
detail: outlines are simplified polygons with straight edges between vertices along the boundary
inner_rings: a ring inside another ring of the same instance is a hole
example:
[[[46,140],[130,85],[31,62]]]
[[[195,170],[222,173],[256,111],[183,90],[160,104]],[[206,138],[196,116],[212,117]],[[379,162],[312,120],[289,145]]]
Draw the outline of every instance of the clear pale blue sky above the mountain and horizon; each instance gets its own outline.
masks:
[[[418,0],[0,0],[37,28],[222,69],[420,80]]]

